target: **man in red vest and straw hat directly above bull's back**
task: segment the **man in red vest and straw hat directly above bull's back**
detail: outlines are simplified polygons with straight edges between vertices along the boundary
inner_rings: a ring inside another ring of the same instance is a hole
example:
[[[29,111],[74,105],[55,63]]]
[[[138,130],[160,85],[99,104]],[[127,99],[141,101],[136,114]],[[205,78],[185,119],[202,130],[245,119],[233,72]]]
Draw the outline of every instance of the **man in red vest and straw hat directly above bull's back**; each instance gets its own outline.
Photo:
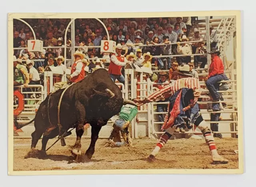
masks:
[[[85,77],[85,72],[84,72],[84,64],[82,63],[82,60],[84,59],[84,55],[80,51],[76,51],[74,54],[75,57],[75,62],[71,67],[71,75],[68,76],[67,78],[71,82],[78,82],[80,80],[83,80]],[[83,71],[82,71],[83,70]]]

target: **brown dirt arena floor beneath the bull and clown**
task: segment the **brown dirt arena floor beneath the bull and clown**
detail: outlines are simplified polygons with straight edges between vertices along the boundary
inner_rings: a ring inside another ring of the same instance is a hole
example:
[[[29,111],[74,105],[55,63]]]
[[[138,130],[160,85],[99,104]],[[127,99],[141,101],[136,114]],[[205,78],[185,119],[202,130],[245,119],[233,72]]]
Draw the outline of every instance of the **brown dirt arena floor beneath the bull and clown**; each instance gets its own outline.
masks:
[[[47,147],[56,139],[48,142]],[[41,149],[41,139],[37,149]],[[238,169],[238,139],[215,138],[218,153],[228,159],[228,164],[212,164],[210,150],[204,139],[169,140],[159,151],[152,163],[146,157],[154,149],[156,139],[135,139],[134,147],[104,147],[104,139],[98,139],[95,153],[90,161],[76,163],[69,145],[74,138],[66,138],[67,146],[61,147],[60,141],[47,151],[44,159],[24,156],[30,150],[31,139],[14,139],[14,171],[68,170],[68,169]],[[82,154],[90,144],[90,139],[82,139]]]

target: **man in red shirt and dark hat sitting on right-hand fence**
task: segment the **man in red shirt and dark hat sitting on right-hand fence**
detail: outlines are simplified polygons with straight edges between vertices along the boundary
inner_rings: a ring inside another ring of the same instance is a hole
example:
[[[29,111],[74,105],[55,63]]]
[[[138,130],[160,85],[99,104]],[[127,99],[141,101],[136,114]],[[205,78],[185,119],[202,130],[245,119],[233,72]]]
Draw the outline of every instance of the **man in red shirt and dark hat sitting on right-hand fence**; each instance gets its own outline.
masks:
[[[222,95],[217,92],[220,90],[220,83],[218,82],[228,80],[228,78],[224,74],[223,62],[219,57],[220,52],[216,51],[215,48],[212,48],[211,52],[208,54],[211,54],[212,63],[210,64],[209,75],[206,78],[207,80],[205,84],[212,96],[213,101],[219,101],[220,99],[223,101]],[[222,103],[222,105],[223,104],[224,103]]]

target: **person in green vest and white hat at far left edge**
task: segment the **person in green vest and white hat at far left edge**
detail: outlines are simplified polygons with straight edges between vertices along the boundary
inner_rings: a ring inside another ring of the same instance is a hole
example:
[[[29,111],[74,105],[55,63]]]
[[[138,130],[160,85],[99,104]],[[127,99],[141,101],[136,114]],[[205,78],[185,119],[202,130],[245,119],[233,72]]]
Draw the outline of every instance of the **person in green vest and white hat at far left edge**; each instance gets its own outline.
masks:
[[[13,67],[13,85],[20,86],[24,84],[25,87],[28,87],[29,74],[20,64],[18,64],[16,56],[13,56]]]

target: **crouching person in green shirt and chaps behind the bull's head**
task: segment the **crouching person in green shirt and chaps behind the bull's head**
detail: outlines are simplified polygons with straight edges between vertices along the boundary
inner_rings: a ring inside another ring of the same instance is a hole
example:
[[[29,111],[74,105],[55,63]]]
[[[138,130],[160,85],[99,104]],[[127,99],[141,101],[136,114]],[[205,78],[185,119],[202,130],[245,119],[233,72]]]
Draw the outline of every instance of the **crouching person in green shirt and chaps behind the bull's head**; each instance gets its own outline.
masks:
[[[132,140],[130,132],[128,131],[128,127],[137,113],[138,108],[134,105],[126,104],[121,108],[119,117],[114,122],[113,130],[111,131],[110,137],[108,138],[108,141],[104,147],[121,147],[122,145],[132,147]],[[120,132],[124,138],[124,142],[121,142]]]

